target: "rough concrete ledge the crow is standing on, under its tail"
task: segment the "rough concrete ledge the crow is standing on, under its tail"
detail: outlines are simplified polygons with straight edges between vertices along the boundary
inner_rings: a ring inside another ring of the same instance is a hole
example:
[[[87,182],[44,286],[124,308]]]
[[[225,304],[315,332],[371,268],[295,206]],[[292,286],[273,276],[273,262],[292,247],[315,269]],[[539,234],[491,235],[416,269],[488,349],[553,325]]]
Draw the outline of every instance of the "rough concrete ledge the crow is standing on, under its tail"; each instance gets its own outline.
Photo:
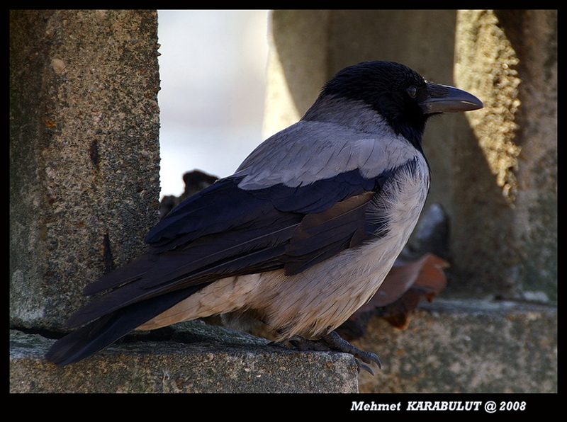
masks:
[[[351,355],[254,345],[250,336],[218,343],[216,336],[223,336],[222,331],[221,327],[214,327],[208,341],[203,341],[203,337],[191,344],[123,343],[59,368],[43,358],[53,340],[11,330],[10,392],[358,392],[357,365]],[[189,336],[195,339],[201,333]]]

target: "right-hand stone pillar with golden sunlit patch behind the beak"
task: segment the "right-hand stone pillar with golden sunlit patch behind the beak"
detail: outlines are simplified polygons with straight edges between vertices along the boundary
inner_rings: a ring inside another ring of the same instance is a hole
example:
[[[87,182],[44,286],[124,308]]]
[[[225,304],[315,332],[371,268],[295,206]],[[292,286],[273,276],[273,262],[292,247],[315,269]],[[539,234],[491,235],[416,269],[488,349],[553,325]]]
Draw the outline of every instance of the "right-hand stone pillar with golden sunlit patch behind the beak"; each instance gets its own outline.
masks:
[[[557,300],[557,11],[459,11],[455,77],[483,98],[454,154],[454,268],[504,297]]]

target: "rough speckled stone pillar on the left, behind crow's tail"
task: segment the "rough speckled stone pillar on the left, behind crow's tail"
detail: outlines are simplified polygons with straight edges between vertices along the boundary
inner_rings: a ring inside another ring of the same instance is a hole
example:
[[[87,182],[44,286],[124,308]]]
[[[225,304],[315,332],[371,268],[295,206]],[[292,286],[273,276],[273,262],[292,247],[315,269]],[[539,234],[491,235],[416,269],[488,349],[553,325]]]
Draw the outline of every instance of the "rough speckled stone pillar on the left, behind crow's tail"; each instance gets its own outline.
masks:
[[[59,329],[158,218],[156,11],[10,11],[11,326]]]

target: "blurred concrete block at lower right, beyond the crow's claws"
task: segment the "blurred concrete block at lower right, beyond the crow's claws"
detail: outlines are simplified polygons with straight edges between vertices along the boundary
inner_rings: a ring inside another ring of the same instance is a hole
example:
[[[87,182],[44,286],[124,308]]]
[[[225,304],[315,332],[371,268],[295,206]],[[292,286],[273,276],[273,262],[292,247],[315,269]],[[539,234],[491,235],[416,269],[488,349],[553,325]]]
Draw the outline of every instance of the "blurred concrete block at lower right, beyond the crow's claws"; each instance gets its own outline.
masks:
[[[361,393],[557,392],[555,306],[438,298],[405,330],[380,318],[367,329],[352,343],[383,365],[360,373]]]

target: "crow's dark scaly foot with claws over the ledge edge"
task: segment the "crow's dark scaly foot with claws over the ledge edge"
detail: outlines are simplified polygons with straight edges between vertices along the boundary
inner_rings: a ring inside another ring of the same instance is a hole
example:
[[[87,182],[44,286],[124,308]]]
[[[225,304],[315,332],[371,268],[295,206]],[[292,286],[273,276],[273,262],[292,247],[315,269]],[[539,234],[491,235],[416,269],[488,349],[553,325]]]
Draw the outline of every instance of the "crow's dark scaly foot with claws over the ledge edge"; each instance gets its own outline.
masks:
[[[288,343],[290,343],[298,350],[336,350],[338,352],[350,353],[354,356],[355,360],[357,360],[359,372],[361,369],[364,369],[374,375],[374,372],[371,370],[371,368],[368,365],[364,365],[364,363],[368,363],[369,365],[376,363],[379,368],[382,367],[380,358],[378,358],[376,354],[366,352],[352,346],[351,343],[344,340],[344,338],[335,333],[335,331],[331,331],[330,333],[321,336],[320,340],[307,340],[305,338],[296,336],[294,338],[291,338]],[[361,361],[364,363],[362,363]]]

